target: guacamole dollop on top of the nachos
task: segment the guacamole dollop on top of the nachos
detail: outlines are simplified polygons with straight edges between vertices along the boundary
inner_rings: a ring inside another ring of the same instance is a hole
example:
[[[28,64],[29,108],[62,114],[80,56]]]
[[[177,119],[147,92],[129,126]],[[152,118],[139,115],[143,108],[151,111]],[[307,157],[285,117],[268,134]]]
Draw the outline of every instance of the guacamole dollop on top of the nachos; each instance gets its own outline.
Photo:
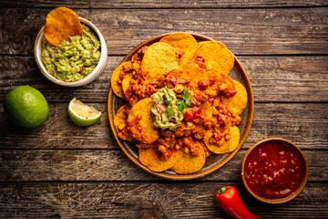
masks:
[[[151,113],[154,119],[154,126],[162,130],[175,130],[183,120],[184,111],[179,111],[176,105],[176,95],[173,89],[167,87],[159,89],[157,93],[151,95],[154,101]]]

